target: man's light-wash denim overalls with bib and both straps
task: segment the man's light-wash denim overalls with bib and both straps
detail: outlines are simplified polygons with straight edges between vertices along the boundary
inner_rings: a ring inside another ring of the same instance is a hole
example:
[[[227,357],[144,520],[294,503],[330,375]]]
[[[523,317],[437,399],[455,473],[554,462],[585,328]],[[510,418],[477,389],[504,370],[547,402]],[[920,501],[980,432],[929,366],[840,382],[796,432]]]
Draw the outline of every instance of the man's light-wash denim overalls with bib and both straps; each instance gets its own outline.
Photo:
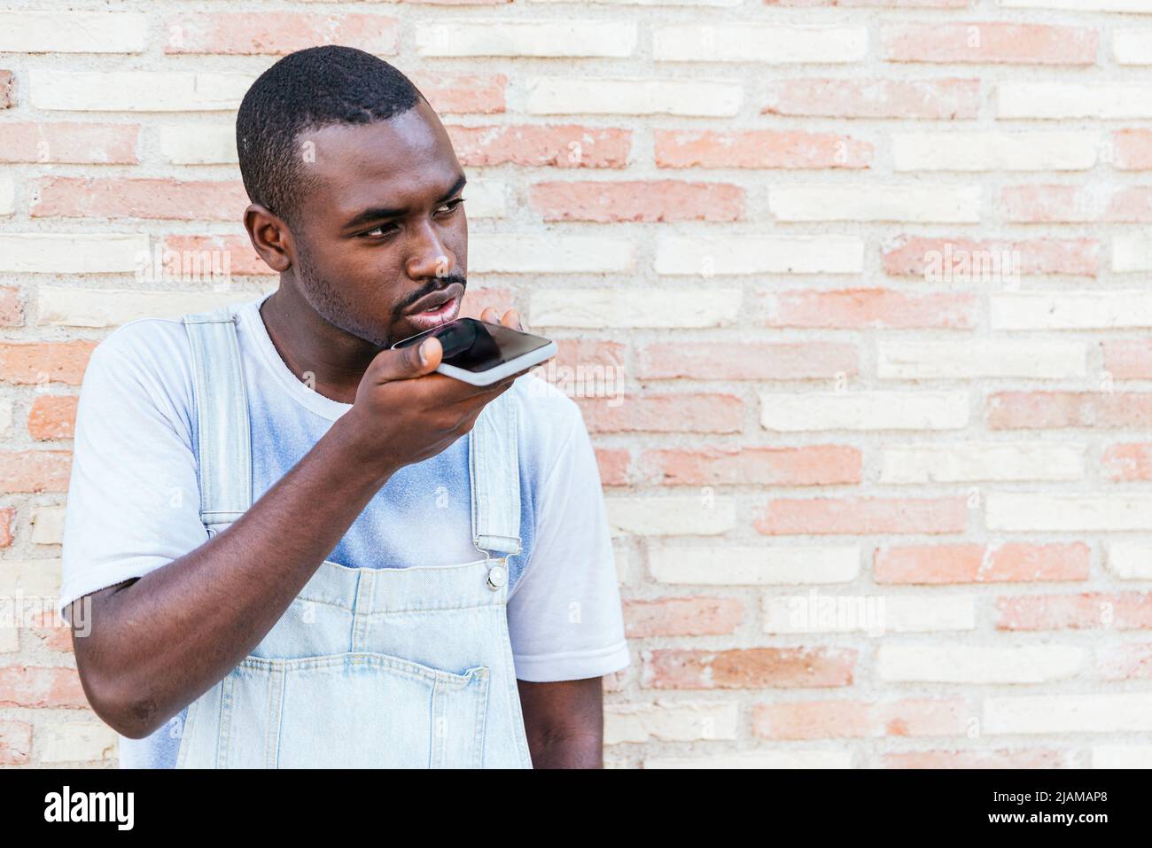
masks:
[[[234,320],[227,306],[183,319],[210,537],[251,505]],[[532,767],[506,614],[507,558],[521,550],[509,401],[505,393],[488,403],[468,437],[480,558],[408,568],[321,562],[251,654],[189,706],[177,768]]]

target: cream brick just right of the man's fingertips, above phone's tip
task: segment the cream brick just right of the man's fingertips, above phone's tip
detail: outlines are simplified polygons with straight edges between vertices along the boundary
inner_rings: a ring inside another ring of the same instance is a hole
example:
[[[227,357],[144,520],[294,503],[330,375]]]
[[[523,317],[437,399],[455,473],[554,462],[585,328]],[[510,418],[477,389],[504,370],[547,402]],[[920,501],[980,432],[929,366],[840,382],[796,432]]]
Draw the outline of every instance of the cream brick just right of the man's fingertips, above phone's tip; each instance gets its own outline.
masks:
[[[740,317],[737,288],[697,289],[533,288],[530,326],[538,327],[714,327]]]

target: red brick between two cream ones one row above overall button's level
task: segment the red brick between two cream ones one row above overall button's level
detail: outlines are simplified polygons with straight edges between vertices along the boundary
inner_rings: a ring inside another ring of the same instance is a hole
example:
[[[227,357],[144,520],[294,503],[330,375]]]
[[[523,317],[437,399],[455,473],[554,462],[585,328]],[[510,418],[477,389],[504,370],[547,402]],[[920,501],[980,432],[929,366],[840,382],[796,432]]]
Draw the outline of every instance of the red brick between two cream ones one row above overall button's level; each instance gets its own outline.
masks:
[[[968,524],[964,498],[778,499],[752,522],[765,536],[790,533],[958,533]]]

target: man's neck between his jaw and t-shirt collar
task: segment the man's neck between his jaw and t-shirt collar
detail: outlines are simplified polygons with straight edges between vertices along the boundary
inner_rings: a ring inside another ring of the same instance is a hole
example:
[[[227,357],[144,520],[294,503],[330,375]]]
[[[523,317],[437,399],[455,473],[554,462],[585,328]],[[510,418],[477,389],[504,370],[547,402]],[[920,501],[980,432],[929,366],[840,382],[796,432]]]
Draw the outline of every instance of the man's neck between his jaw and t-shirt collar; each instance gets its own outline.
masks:
[[[378,353],[372,344],[326,321],[283,282],[260,304],[260,318],[296,379],[331,400],[356,400],[361,378]]]

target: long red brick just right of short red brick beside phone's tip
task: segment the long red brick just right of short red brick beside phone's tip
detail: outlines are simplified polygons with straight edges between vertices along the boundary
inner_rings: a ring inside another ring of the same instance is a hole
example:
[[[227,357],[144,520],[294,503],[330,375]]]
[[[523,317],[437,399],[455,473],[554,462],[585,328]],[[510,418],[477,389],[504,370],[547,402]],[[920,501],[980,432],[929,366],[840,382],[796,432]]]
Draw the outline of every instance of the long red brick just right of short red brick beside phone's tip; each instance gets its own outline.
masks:
[[[855,344],[839,342],[700,342],[649,344],[639,351],[641,379],[824,380],[859,372]]]

